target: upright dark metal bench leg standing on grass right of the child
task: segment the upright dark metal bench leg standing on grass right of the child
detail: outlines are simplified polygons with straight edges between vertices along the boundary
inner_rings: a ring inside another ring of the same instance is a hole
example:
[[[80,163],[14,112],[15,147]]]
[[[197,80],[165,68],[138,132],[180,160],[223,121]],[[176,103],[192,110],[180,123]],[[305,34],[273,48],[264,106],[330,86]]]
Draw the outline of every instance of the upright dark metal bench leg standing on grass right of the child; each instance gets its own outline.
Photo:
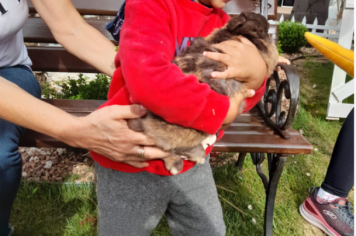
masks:
[[[284,163],[287,160],[287,155],[281,154],[267,154],[268,156],[268,169],[269,169],[269,184],[266,191],[266,205],[265,205],[265,236],[273,235],[273,210],[274,201],[276,198],[277,187],[281,177]]]

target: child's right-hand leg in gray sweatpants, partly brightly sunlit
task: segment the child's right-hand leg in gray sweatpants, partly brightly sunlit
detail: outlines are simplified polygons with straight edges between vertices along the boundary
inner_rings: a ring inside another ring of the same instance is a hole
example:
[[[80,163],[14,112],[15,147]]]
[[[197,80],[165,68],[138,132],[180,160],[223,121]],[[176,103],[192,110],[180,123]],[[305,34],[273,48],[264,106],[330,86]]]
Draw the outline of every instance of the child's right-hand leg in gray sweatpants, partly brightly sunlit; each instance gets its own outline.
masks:
[[[166,212],[173,236],[224,236],[226,227],[209,157],[204,165],[170,176],[171,201]]]

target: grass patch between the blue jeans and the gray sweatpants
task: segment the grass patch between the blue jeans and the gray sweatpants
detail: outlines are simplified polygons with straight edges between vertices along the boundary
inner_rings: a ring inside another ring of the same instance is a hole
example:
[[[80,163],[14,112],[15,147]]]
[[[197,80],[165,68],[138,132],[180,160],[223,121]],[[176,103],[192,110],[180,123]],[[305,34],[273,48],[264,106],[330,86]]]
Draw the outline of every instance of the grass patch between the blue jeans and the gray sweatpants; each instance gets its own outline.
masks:
[[[96,208],[92,184],[23,182],[12,211],[13,235],[96,235]]]

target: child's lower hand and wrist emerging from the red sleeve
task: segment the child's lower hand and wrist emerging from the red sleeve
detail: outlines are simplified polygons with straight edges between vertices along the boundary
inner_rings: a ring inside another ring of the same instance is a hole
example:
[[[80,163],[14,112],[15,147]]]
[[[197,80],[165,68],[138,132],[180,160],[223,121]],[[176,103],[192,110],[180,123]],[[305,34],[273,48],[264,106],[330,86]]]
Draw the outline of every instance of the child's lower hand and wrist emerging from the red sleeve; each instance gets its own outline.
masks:
[[[240,115],[242,112],[241,104],[246,98],[253,97],[255,91],[252,89],[245,89],[241,93],[236,93],[234,97],[230,98],[230,108],[225,117],[221,129],[225,129],[230,126],[230,124],[235,120],[236,116]]]

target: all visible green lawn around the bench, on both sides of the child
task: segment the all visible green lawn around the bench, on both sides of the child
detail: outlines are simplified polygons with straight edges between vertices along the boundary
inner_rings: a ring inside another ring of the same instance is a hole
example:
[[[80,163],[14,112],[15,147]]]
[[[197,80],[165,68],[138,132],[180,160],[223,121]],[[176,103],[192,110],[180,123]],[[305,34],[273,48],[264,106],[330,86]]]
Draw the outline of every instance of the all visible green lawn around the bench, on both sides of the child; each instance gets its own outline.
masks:
[[[299,70],[301,108],[293,128],[302,129],[304,136],[318,150],[311,155],[288,158],[274,209],[273,231],[274,235],[280,236],[308,235],[305,230],[310,225],[301,218],[298,207],[308,196],[308,188],[320,186],[324,180],[333,146],[343,123],[342,119],[325,120],[333,65],[310,60],[299,68],[302,68]],[[312,88],[314,84],[317,85],[316,88]],[[353,102],[353,97],[348,102]],[[267,173],[266,162],[263,168]],[[213,171],[219,186],[227,235],[263,235],[265,193],[251,159],[246,158],[241,173],[236,171],[233,163]],[[349,198],[353,203],[353,194]],[[93,187],[68,188],[25,182],[20,187],[13,209],[11,222],[15,225],[14,235],[96,235],[95,223],[88,220],[97,215],[95,202]],[[249,205],[252,210],[248,209]],[[252,218],[256,220],[256,224],[252,222]],[[313,230],[309,235],[323,235],[319,230]],[[152,235],[170,235],[165,218]]]

